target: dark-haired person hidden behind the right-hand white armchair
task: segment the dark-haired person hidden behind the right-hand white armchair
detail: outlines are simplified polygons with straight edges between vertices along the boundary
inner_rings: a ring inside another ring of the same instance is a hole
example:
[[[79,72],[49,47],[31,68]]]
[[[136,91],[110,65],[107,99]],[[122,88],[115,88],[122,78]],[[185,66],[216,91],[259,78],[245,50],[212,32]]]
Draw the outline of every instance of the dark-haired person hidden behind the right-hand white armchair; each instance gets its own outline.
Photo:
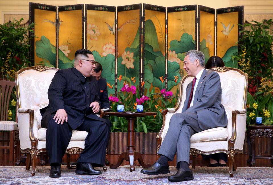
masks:
[[[211,56],[205,65],[205,69],[224,67],[225,64],[219,56]],[[210,159],[210,167],[226,166],[228,156],[225,153],[202,155],[204,160]]]

